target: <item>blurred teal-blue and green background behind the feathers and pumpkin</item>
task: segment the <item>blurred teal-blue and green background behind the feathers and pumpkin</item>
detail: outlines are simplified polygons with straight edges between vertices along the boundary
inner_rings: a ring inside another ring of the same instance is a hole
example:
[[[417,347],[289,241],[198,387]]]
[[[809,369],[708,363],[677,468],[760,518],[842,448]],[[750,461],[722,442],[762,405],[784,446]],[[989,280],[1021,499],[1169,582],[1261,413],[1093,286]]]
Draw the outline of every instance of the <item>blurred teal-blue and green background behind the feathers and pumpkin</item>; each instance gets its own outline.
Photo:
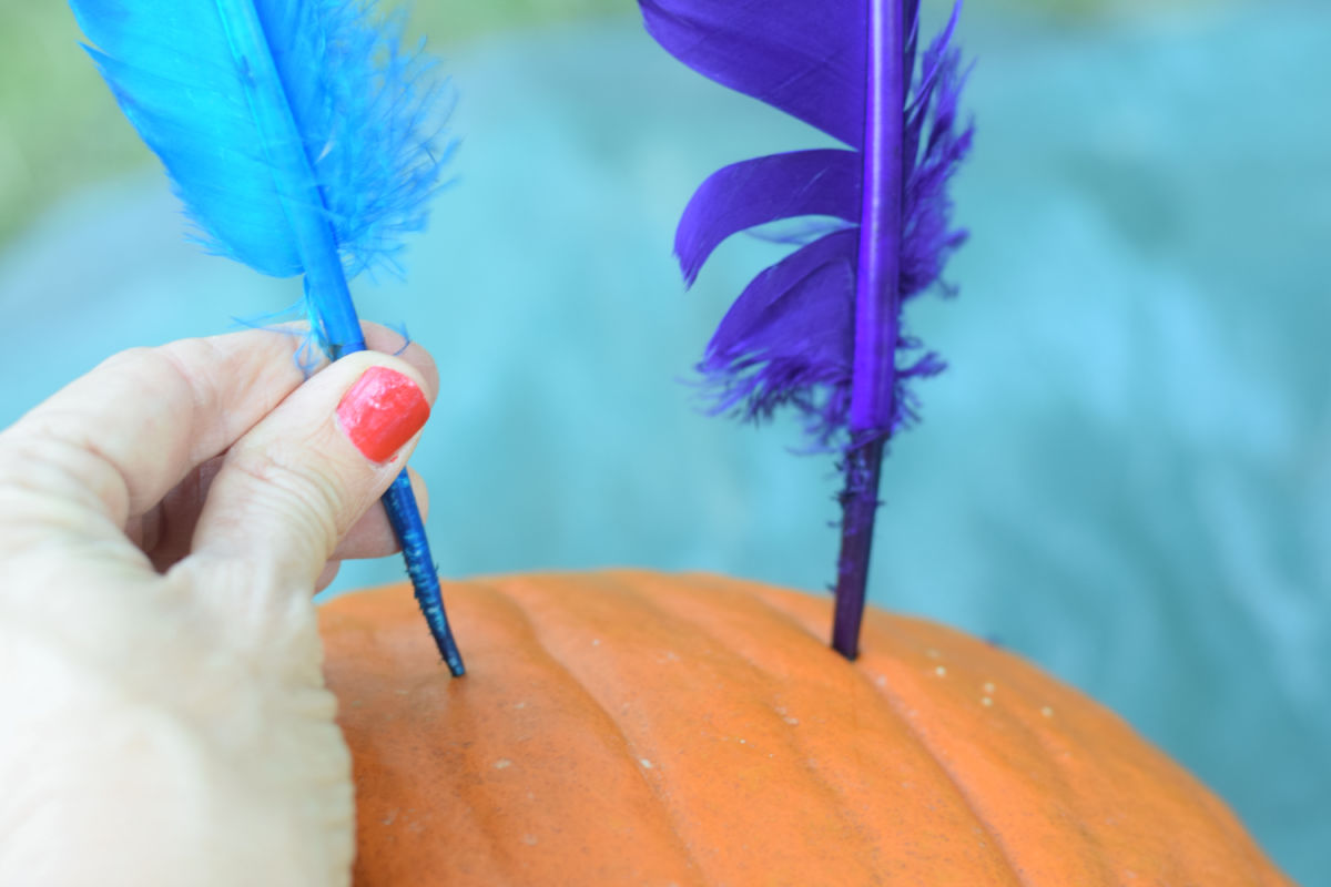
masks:
[[[413,464],[443,572],[824,588],[831,459],[679,383],[780,250],[736,238],[689,294],[669,255],[709,172],[820,140],[673,63],[630,0],[417,13],[458,181],[407,282],[355,289],[439,363]],[[298,298],[182,242],[60,4],[0,0],[0,426],[113,351]],[[996,0],[961,41],[973,237],[960,299],[909,317],[952,368],[892,447],[873,600],[1087,690],[1331,884],[1331,8]]]

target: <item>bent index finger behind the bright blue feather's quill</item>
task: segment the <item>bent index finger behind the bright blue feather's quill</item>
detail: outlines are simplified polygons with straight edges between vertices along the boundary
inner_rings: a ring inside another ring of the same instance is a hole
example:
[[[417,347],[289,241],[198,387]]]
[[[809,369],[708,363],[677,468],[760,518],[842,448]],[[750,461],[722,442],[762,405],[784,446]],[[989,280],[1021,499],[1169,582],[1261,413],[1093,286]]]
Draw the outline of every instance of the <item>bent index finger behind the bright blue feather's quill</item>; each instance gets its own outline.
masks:
[[[403,339],[363,324],[370,348]],[[226,451],[305,380],[285,330],[246,330],[117,354],[0,434],[0,472],[33,471],[45,492],[77,499],[116,525],[157,504],[194,467]],[[419,346],[401,355],[437,384]],[[55,468],[56,471],[49,471]]]

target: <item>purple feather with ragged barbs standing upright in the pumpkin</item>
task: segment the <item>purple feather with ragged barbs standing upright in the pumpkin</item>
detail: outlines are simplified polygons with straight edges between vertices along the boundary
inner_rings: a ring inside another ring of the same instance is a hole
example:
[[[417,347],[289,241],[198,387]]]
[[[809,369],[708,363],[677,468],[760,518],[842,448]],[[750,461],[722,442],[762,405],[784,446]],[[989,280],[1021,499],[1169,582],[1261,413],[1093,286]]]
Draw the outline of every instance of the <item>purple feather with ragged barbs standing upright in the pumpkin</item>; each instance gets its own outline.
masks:
[[[716,412],[787,404],[815,448],[841,452],[845,487],[833,646],[858,648],[886,440],[916,419],[910,382],[942,371],[901,310],[940,283],[965,239],[946,185],[970,149],[957,122],[961,9],[916,69],[918,0],[639,0],[648,33],[693,70],[848,145],[747,160],[693,194],[675,237],[692,285],[712,251],[755,226],[832,217],[739,295],[699,364]],[[945,293],[952,293],[942,285]]]

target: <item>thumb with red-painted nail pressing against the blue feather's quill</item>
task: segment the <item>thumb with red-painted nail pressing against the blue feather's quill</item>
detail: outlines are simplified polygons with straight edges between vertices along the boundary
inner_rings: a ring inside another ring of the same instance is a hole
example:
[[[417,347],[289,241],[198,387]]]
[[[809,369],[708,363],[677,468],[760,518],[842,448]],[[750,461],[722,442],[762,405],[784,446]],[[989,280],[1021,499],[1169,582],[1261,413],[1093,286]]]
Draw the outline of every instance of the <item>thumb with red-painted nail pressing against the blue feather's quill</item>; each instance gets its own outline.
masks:
[[[338,541],[402,471],[430,399],[403,360],[373,351],[337,360],[232,445],[186,560],[230,561],[230,574],[256,570],[261,586],[313,589]]]

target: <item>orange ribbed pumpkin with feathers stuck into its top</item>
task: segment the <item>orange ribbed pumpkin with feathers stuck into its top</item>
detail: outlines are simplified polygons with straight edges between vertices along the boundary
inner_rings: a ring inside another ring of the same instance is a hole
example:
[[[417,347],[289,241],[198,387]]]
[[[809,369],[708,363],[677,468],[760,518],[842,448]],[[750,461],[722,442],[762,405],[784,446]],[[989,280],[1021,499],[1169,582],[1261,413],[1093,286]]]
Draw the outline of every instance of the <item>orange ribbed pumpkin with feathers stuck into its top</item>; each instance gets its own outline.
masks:
[[[614,570],[321,608],[361,887],[1292,884],[1121,718],[1017,656],[831,600]]]

